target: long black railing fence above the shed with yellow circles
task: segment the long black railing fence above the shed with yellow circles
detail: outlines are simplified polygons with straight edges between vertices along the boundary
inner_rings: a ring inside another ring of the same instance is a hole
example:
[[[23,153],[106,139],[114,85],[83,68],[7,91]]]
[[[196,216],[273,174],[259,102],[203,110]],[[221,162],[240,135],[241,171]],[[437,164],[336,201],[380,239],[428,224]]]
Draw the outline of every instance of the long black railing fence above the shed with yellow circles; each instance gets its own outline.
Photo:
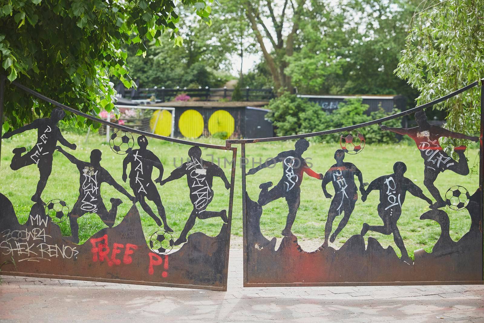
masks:
[[[231,100],[234,89],[199,87],[198,89],[188,88],[137,88],[126,89],[122,84],[116,88],[121,97],[131,100],[151,100],[155,102],[173,101],[178,95],[185,93],[191,99],[199,99],[203,101],[219,101],[221,99]],[[269,101],[274,98],[275,92],[273,88],[267,89],[252,89],[246,87],[241,89],[240,98],[236,101]]]

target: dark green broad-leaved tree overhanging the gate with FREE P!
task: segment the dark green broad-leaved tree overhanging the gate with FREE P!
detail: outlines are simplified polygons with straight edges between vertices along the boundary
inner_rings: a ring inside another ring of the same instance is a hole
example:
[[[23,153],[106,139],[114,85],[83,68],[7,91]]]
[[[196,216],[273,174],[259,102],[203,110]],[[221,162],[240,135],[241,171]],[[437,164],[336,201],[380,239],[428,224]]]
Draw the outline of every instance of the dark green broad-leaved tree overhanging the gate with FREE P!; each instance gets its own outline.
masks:
[[[212,23],[212,0],[181,2]],[[97,115],[101,108],[114,107],[110,76],[128,87],[134,84],[123,46],[136,44],[136,55],[143,55],[145,43],[159,45],[165,31],[180,46],[178,23],[171,0],[0,0],[0,73]],[[52,108],[14,86],[5,95],[4,130],[48,115]]]

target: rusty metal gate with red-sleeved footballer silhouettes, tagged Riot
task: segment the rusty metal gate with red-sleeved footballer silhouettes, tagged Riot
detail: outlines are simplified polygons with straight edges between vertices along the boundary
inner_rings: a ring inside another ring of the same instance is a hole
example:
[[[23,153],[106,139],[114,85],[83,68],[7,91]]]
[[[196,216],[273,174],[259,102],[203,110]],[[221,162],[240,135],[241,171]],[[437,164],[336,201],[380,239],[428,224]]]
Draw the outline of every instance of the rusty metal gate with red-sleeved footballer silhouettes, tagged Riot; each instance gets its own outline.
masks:
[[[480,134],[425,115],[478,85],[368,123],[228,140],[242,151],[244,286],[482,284],[484,86]],[[409,114],[415,127],[394,122]],[[403,141],[373,146],[378,127]],[[458,144],[446,152],[442,137]],[[325,151],[306,138],[326,141]],[[318,231],[316,246],[298,240],[304,230]],[[428,232],[431,243],[419,241]]]

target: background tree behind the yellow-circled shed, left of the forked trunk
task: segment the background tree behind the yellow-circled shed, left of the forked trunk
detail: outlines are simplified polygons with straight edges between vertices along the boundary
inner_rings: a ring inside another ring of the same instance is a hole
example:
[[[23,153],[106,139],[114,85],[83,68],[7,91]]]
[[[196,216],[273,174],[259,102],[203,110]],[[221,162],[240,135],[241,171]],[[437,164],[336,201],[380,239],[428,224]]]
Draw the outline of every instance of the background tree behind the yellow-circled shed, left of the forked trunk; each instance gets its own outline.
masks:
[[[179,16],[183,43],[173,47],[147,42],[145,57],[134,55],[137,46],[128,46],[128,53],[133,53],[127,59],[130,75],[139,80],[140,87],[222,86],[229,77],[230,54],[237,51],[238,40],[231,38],[232,30],[227,27],[233,21],[217,15],[209,27],[185,7],[180,8]],[[169,45],[169,37],[162,35],[162,43]]]

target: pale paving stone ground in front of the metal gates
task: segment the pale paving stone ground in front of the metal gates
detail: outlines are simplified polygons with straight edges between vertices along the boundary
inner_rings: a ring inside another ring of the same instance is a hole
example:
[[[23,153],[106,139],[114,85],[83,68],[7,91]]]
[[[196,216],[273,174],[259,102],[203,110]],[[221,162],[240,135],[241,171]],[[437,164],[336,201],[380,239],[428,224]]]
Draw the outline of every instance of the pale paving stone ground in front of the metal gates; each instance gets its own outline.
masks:
[[[227,292],[2,276],[0,321],[484,323],[482,285],[243,288],[242,250],[228,275]]]

